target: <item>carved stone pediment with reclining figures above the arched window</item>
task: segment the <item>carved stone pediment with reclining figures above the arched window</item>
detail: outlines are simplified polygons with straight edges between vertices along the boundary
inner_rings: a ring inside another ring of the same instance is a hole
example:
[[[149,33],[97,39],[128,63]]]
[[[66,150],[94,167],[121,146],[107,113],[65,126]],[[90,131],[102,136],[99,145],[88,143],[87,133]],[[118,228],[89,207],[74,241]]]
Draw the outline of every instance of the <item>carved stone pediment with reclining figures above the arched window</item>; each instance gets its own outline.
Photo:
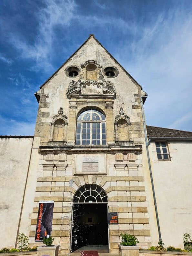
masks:
[[[114,98],[116,89],[111,81],[72,80],[67,89],[68,98]]]

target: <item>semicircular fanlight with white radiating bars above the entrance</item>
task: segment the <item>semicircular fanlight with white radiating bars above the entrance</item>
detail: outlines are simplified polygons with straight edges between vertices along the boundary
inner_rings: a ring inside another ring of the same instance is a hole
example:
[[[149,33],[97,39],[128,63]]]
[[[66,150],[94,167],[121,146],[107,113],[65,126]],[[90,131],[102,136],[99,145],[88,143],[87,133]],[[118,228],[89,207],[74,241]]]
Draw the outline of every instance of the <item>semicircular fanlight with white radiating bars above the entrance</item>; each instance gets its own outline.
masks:
[[[99,186],[85,185],[79,188],[74,196],[74,203],[107,203],[106,192]]]

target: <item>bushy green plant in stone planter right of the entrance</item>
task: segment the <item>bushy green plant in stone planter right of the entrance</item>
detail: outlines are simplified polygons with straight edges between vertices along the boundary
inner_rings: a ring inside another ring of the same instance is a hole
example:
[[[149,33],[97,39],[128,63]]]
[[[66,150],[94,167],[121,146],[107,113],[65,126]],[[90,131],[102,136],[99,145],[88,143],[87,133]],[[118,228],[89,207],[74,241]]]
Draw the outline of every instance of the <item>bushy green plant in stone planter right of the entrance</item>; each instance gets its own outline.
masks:
[[[139,256],[139,243],[134,235],[130,235],[128,232],[121,234],[121,243],[119,243],[120,256]]]

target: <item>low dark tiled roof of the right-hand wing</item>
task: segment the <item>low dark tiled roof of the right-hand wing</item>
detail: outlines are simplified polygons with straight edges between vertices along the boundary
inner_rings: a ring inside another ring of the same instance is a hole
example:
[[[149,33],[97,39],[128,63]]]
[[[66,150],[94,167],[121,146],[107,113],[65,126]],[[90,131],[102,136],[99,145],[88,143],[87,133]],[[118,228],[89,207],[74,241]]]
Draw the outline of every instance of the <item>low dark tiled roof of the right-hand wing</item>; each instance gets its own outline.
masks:
[[[192,138],[192,132],[147,125],[149,138]]]

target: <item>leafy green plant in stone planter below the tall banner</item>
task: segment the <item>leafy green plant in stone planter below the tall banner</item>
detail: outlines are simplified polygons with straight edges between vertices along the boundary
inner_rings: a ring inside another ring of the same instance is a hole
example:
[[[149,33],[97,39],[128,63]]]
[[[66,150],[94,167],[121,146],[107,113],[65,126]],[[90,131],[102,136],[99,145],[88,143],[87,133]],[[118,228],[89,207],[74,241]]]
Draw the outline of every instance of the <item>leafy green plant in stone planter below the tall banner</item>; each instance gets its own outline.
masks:
[[[53,245],[54,238],[51,236],[43,239],[45,245],[37,247],[37,256],[50,255],[58,256],[59,245]]]

